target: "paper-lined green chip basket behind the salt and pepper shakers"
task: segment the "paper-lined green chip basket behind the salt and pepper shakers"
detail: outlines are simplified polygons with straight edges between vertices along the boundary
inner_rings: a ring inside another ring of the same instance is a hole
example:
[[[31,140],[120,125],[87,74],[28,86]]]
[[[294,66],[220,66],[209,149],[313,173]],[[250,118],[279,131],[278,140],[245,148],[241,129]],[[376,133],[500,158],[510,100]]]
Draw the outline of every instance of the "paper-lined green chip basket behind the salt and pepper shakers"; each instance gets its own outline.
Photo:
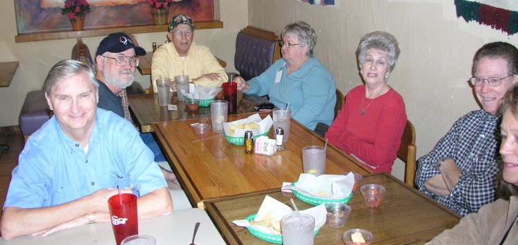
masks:
[[[273,124],[270,115],[261,120],[259,114],[253,114],[241,120],[223,122],[224,137],[234,145],[243,145],[245,131],[252,131],[253,139],[256,140],[259,136],[268,136]]]

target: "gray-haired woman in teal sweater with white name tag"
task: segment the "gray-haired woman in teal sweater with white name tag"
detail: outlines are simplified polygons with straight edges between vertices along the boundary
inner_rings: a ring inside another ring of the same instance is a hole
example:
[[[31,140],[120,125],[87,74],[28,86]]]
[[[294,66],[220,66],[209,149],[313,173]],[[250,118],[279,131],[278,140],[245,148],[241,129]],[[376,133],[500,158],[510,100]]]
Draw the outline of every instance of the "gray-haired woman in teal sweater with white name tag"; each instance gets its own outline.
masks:
[[[282,32],[282,58],[259,76],[245,82],[234,78],[245,94],[268,95],[276,107],[314,130],[318,122],[331,125],[336,103],[336,85],[327,68],[313,56],[315,30],[303,21],[287,25]]]

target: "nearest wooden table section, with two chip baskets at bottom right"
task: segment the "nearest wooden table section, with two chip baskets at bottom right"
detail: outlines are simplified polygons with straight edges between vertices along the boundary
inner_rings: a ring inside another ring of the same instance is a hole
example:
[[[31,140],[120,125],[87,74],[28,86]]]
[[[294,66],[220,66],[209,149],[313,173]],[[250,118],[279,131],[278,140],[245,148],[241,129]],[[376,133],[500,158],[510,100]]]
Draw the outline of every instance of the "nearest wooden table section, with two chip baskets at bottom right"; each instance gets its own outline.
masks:
[[[381,205],[369,209],[363,203],[361,193],[355,192],[348,203],[352,212],[345,226],[332,228],[325,224],[316,235],[315,244],[343,244],[342,233],[352,228],[370,231],[374,235],[374,244],[424,244],[443,230],[455,226],[461,219],[457,213],[408,187],[392,175],[367,175],[361,184],[381,184],[387,189]],[[207,201],[207,212],[227,244],[270,244],[251,235],[247,228],[231,223],[257,213],[265,195],[289,206],[289,198],[293,198],[298,209],[309,209],[312,206],[278,189]]]

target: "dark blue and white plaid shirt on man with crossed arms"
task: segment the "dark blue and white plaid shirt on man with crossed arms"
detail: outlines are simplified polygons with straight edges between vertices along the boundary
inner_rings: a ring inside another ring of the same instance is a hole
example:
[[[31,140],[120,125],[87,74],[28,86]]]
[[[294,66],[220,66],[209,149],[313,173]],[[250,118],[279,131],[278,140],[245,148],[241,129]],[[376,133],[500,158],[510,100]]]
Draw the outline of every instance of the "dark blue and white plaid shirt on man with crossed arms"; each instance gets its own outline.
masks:
[[[500,158],[497,154],[501,141],[500,118],[483,110],[471,111],[459,118],[435,148],[419,158],[415,178],[419,191],[463,216],[494,202]],[[434,195],[425,189],[425,181],[441,173],[437,169],[441,158],[452,158],[462,171],[450,195]]]

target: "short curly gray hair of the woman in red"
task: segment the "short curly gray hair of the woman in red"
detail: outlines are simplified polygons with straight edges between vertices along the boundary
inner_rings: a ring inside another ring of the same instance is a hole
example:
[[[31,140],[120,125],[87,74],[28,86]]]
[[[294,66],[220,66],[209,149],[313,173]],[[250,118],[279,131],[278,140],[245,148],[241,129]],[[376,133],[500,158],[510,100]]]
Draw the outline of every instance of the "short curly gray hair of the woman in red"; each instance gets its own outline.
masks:
[[[396,38],[388,32],[371,32],[365,34],[365,36],[361,38],[360,45],[358,45],[358,49],[356,50],[360,67],[365,61],[367,51],[372,48],[387,53],[389,59],[388,63],[390,65],[388,72],[392,72],[398,61],[399,53],[401,52]]]

